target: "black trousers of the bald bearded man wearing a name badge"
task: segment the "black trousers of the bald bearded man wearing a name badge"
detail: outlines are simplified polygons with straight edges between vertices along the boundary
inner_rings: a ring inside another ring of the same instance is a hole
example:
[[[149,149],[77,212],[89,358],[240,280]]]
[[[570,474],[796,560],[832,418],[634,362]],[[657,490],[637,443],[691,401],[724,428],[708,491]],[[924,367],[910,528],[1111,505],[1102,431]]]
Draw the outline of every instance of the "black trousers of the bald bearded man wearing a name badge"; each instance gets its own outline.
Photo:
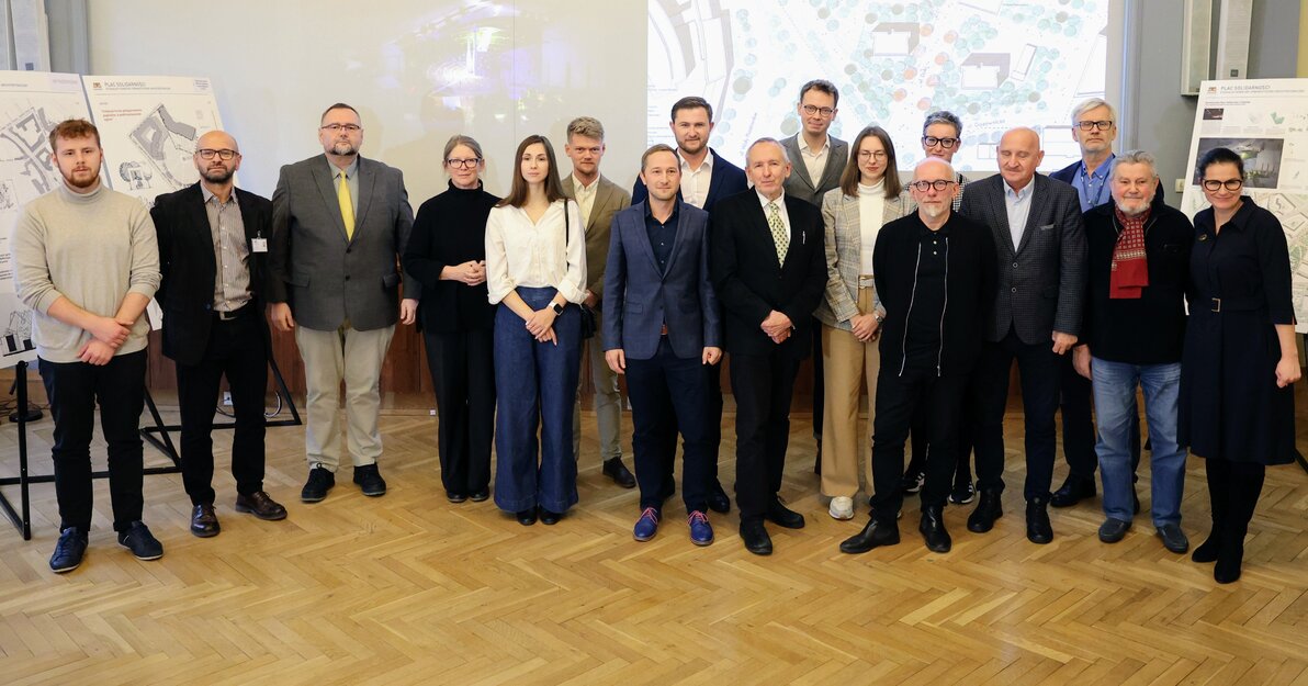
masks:
[[[182,484],[192,505],[213,504],[213,408],[224,376],[228,377],[235,416],[232,477],[237,482],[237,492],[250,495],[263,490],[268,348],[258,319],[263,313],[252,305],[246,305],[241,313],[228,321],[215,317],[199,363],[177,363],[177,397],[182,410]]]

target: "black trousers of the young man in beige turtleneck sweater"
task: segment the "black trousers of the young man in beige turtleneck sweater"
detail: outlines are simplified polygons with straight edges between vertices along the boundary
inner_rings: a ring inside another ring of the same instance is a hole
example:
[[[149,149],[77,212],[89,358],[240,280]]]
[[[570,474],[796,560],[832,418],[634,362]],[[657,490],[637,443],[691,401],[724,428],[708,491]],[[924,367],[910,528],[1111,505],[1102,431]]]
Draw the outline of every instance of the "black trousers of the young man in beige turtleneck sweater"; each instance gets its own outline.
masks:
[[[141,408],[145,406],[145,351],[118,355],[109,364],[51,363],[39,360],[50,414],[55,418],[55,497],[59,529],[90,529],[90,439],[99,402],[99,428],[109,444],[109,495],[114,530],[140,521],[143,448]]]

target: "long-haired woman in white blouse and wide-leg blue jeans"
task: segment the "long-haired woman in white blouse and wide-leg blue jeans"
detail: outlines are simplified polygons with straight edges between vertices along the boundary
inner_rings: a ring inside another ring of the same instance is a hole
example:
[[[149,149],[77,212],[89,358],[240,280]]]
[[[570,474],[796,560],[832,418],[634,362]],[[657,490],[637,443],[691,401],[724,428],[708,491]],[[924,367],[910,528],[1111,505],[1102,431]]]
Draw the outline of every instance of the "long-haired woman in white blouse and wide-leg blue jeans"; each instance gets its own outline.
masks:
[[[544,136],[518,145],[513,187],[487,220],[494,319],[494,503],[531,525],[577,503],[573,399],[581,364],[586,236]],[[536,425],[540,423],[538,462]]]

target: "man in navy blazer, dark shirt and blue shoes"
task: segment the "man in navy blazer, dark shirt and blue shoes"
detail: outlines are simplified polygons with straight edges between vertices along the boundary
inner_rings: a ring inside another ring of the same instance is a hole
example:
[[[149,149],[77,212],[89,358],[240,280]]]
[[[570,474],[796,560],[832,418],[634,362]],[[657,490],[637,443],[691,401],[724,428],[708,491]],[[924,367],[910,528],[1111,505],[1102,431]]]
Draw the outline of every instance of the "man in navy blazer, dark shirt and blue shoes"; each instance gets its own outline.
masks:
[[[708,484],[714,458],[709,370],[722,356],[722,325],[709,281],[709,215],[678,198],[681,166],[658,144],[641,157],[649,196],[613,219],[604,274],[604,359],[627,374],[641,516],[633,537],[658,532],[666,479],[685,440],[681,499],[691,541],[713,542]]]

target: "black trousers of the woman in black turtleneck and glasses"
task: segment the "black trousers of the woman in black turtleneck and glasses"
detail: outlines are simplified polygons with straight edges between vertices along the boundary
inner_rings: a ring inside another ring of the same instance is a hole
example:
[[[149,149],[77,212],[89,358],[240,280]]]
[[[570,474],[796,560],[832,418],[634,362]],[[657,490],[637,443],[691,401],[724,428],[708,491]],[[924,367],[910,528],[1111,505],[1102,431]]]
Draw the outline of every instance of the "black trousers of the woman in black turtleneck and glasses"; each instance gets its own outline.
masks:
[[[472,495],[490,486],[494,439],[493,329],[422,334],[438,418],[441,483]]]

